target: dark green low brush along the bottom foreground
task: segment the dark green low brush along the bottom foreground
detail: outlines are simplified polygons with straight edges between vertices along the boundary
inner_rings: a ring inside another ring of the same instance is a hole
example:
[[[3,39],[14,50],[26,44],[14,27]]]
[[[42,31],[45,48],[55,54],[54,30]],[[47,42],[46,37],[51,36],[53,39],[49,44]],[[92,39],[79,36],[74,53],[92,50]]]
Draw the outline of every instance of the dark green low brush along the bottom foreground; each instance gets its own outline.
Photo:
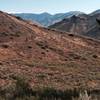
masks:
[[[33,90],[24,78],[13,77],[13,79],[16,80],[14,87],[0,89],[0,100],[94,100],[88,95],[90,92],[80,93],[80,89],[61,91],[45,87]]]

